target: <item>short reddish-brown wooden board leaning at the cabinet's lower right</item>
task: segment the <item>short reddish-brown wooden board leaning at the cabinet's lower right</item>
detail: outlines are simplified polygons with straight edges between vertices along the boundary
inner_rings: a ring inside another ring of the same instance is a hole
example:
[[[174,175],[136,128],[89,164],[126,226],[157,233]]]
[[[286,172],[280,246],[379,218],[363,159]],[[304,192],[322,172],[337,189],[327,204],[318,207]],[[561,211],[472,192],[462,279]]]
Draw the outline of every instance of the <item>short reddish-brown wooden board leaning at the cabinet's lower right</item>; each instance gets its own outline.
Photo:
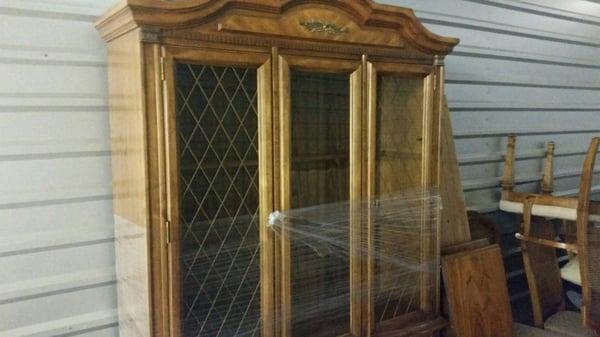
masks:
[[[458,336],[515,336],[498,245],[442,258],[442,274],[450,323]]]

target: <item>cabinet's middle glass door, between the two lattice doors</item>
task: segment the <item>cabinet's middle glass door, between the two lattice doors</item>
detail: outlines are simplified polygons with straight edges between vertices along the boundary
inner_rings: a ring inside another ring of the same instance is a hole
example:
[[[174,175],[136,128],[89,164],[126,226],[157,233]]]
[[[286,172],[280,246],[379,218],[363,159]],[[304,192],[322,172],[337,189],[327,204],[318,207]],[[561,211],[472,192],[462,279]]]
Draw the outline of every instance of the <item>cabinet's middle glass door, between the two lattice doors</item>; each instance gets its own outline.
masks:
[[[350,129],[352,83],[360,67],[319,69],[284,63],[282,82],[289,90],[281,93],[283,125],[284,209],[347,202],[353,198]],[[331,63],[328,63],[331,64]],[[360,90],[360,87],[357,87]],[[286,96],[286,94],[288,94]],[[285,97],[284,97],[285,96]],[[286,132],[288,131],[288,132]],[[360,178],[360,177],[358,177]],[[338,238],[349,240],[352,228],[338,229]],[[353,335],[352,266],[349,252],[320,254],[310,244],[294,237],[291,229],[282,245],[283,336],[336,337]],[[315,233],[318,235],[318,233]],[[327,238],[321,238],[326,240]],[[318,238],[315,240],[319,241]],[[349,243],[346,243],[349,246]]]

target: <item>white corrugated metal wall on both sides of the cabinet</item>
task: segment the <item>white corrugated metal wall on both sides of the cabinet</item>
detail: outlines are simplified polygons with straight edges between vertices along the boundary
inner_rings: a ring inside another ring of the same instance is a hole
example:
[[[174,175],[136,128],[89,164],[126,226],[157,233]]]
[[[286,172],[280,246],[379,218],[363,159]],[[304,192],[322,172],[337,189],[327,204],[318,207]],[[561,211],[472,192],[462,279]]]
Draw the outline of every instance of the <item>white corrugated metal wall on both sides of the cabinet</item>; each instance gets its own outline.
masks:
[[[112,2],[0,0],[3,337],[117,334],[106,52],[93,28]],[[556,190],[576,191],[600,134],[597,1],[382,2],[461,38],[447,94],[471,208],[496,210],[509,132],[522,188],[537,188],[553,140]]]

